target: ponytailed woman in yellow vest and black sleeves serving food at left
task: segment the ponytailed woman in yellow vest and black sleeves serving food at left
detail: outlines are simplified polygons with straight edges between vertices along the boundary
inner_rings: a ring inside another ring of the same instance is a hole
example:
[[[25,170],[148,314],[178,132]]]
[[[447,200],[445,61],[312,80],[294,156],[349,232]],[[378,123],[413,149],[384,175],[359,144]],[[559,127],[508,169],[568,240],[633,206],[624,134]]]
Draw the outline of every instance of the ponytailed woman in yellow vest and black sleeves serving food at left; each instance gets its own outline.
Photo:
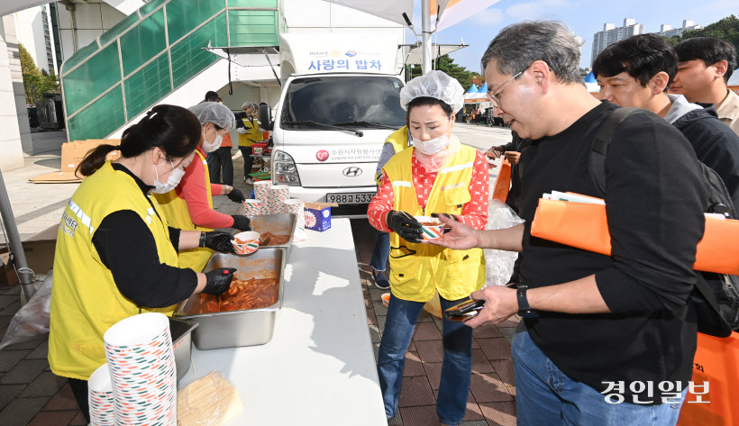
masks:
[[[154,107],[123,132],[120,146],[100,145],[78,173],[87,178],[59,223],[51,291],[49,364],[68,377],[89,420],[87,380],[105,364],[103,334],[137,313],[171,315],[190,295],[221,295],[235,269],[199,274],[178,267],[178,249],[233,252],[227,232],[180,231],[169,226],[150,194],[178,185],[200,140],[193,113]],[[105,156],[121,150],[113,162]]]

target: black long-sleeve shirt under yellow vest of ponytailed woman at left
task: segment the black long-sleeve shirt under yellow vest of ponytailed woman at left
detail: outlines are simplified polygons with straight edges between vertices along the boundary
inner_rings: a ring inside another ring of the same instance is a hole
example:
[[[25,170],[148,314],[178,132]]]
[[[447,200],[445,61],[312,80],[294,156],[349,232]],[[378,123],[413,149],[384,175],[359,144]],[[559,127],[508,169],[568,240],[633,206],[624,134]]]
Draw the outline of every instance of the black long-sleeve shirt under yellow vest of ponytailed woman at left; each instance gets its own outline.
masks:
[[[142,196],[147,196],[152,186],[120,164],[113,163],[113,168],[130,175],[141,188]],[[179,245],[179,232],[169,227],[169,239],[175,249]],[[113,273],[118,291],[140,307],[177,304],[196,289],[194,270],[161,263],[154,235],[139,213],[121,210],[108,214],[92,241],[103,264]]]

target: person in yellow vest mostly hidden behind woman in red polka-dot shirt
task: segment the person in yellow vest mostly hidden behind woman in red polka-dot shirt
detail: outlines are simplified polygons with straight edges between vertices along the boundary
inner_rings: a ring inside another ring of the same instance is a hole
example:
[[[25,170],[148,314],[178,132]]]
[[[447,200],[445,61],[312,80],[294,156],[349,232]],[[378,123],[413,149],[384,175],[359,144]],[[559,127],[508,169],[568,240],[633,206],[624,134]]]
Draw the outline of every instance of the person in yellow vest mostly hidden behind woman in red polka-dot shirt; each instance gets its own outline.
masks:
[[[382,146],[382,152],[379,154],[378,168],[375,173],[375,182],[378,183],[378,186],[382,185],[382,168],[388,164],[388,160],[411,145],[413,145],[413,137],[411,136],[411,132],[408,130],[406,119],[406,125],[397,131],[390,133],[388,139],[385,140],[385,144]],[[385,272],[385,268],[388,265],[389,253],[390,234],[388,234],[388,232],[378,231],[378,234],[375,237],[375,247],[372,249],[370,267],[372,267],[372,278],[375,281],[375,286],[380,290],[387,290],[390,288],[388,274]]]

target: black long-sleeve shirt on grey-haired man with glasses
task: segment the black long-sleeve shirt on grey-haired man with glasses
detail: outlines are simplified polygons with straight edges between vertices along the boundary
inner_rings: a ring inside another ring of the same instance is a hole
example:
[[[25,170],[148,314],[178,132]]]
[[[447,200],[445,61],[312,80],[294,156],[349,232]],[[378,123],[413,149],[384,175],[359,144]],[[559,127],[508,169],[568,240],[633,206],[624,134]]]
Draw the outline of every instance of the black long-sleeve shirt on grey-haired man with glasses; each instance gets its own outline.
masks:
[[[690,379],[696,349],[688,300],[707,192],[688,140],[646,111],[616,129],[605,164],[611,256],[531,236],[543,193],[604,196],[590,177],[588,159],[599,125],[614,108],[600,104],[565,131],[534,140],[521,163],[523,284],[552,286],[595,275],[612,313],[542,313],[525,326],[572,379],[598,391],[607,388],[603,382],[625,381],[625,394],[630,383],[651,380],[658,395],[661,381]]]

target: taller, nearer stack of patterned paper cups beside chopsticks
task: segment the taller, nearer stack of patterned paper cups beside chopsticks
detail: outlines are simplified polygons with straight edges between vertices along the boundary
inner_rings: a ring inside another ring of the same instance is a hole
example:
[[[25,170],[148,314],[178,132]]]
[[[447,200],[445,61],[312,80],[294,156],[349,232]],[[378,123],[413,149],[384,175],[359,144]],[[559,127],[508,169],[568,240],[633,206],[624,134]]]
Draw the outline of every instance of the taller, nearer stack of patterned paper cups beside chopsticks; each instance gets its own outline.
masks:
[[[177,372],[169,320],[141,313],[105,331],[116,426],[177,424]]]

